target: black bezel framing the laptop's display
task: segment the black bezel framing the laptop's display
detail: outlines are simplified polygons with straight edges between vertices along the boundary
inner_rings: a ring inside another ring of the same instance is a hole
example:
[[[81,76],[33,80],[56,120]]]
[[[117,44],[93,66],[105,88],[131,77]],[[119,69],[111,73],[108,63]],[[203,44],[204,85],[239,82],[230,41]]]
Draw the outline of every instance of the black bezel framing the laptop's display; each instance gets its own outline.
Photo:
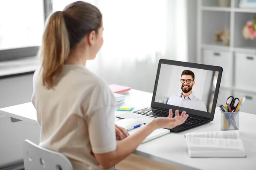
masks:
[[[160,69],[161,69],[162,64],[177,65],[177,66],[188,67],[188,68],[198,68],[198,69],[209,70],[209,71],[218,71],[218,79],[217,79],[216,89],[215,89],[213,103],[212,103],[212,111],[204,112],[204,111],[198,111],[195,109],[183,108],[183,107],[178,107],[175,105],[167,105],[164,103],[155,102],[159,74],[160,74]],[[219,88],[220,88],[220,84],[221,84],[222,72],[223,72],[223,69],[222,69],[222,67],[219,67],[219,66],[197,64],[197,63],[191,63],[191,62],[181,62],[181,61],[174,61],[174,60],[168,60],[168,59],[160,59],[159,63],[158,63],[158,68],[157,68],[157,75],[156,75],[156,80],[155,80],[155,84],[154,84],[154,91],[153,91],[153,96],[152,96],[152,101],[151,101],[151,107],[152,108],[160,108],[160,109],[164,109],[167,111],[172,108],[172,110],[179,110],[180,112],[186,111],[186,113],[188,113],[188,114],[202,116],[202,117],[206,117],[206,118],[213,120],[214,114],[215,114],[215,108],[216,108],[216,104],[217,104],[217,99],[218,99]]]

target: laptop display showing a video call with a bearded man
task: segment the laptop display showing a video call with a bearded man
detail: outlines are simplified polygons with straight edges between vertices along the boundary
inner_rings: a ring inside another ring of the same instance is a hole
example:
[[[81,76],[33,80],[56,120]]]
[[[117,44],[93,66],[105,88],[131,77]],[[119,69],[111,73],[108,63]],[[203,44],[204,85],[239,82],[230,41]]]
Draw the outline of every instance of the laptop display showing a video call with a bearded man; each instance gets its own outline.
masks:
[[[217,79],[218,71],[162,63],[154,102],[211,113]]]

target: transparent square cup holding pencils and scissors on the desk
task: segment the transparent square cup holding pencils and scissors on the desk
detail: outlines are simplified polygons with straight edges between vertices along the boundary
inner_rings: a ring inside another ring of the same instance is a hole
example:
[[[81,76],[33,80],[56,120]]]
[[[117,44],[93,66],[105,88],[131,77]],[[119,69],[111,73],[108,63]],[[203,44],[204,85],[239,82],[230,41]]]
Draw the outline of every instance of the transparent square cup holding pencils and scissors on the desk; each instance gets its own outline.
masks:
[[[221,130],[239,130],[239,112],[221,111]]]

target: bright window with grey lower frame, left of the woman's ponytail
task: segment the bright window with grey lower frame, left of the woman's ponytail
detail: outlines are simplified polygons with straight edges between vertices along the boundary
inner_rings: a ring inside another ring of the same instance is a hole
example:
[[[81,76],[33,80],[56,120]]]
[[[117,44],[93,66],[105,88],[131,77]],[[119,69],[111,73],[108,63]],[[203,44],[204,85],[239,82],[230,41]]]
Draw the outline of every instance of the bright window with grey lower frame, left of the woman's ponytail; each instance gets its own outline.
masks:
[[[1,0],[0,16],[0,60],[36,55],[44,31],[44,0]]]

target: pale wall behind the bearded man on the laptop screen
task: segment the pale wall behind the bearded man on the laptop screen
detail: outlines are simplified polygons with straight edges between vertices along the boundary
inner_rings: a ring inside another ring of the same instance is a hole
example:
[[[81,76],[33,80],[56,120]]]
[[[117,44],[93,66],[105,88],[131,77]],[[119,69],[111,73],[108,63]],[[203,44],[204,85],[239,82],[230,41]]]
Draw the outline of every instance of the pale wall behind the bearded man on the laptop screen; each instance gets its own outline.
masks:
[[[205,104],[207,103],[209,88],[212,84],[211,78],[214,73],[213,71],[165,64],[161,66],[156,100],[162,100],[165,97],[169,98],[172,95],[181,94],[180,76],[182,71],[186,69],[193,71],[195,74],[195,85],[192,88],[193,94],[199,99],[202,99]]]

